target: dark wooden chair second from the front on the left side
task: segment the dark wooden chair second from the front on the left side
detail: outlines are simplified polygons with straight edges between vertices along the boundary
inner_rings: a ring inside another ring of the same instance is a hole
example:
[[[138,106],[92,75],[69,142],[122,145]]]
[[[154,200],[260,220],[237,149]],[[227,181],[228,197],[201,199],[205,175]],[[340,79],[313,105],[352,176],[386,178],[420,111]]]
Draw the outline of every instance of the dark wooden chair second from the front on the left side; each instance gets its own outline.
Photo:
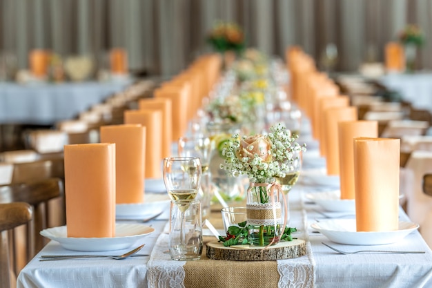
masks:
[[[50,209],[48,209],[48,201],[60,198],[63,194],[63,182],[59,178],[0,186],[0,204],[26,202],[33,208],[33,220],[27,225],[26,231],[21,231],[26,235],[26,240],[23,242],[22,236],[21,238],[14,236],[20,231],[12,233],[15,271],[20,271],[23,265],[48,242],[39,234],[41,230],[49,227]],[[26,247],[26,255],[22,255],[23,247]]]

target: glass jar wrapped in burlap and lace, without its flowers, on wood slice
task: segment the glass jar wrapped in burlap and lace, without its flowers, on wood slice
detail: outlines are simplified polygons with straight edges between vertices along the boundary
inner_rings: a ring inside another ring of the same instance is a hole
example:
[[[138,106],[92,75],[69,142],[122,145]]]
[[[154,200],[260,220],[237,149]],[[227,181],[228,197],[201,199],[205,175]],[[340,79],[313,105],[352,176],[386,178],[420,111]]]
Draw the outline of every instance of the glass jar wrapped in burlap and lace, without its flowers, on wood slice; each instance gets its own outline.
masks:
[[[277,244],[286,224],[279,190],[268,183],[251,183],[246,193],[248,242],[253,246]]]

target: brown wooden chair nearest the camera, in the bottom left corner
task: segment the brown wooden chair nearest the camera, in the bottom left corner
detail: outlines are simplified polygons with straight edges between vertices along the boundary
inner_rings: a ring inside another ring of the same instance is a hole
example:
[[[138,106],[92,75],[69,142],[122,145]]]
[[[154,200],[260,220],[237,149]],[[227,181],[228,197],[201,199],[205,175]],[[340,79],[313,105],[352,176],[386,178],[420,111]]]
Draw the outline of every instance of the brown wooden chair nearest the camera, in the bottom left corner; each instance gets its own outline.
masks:
[[[25,202],[0,204],[0,288],[14,287],[16,275],[10,262],[8,231],[32,219],[32,207]]]

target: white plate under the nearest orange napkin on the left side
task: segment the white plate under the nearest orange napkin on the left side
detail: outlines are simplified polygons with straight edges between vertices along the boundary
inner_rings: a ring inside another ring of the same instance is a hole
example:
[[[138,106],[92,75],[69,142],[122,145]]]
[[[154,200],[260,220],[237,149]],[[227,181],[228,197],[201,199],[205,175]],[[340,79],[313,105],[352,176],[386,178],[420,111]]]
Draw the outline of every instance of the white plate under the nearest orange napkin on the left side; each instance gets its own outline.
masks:
[[[112,251],[132,247],[135,242],[155,231],[144,224],[115,224],[115,237],[74,238],[68,237],[66,226],[42,230],[41,236],[57,241],[65,249],[75,251]]]

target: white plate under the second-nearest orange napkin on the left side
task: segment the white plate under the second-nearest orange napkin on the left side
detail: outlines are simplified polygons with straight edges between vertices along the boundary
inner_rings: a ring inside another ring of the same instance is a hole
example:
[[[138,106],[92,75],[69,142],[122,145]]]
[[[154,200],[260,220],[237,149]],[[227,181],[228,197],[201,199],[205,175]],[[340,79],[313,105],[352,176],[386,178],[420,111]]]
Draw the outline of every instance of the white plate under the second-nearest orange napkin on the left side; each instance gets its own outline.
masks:
[[[116,204],[115,219],[117,220],[142,220],[150,218],[170,209],[170,201],[155,201],[132,204]]]

